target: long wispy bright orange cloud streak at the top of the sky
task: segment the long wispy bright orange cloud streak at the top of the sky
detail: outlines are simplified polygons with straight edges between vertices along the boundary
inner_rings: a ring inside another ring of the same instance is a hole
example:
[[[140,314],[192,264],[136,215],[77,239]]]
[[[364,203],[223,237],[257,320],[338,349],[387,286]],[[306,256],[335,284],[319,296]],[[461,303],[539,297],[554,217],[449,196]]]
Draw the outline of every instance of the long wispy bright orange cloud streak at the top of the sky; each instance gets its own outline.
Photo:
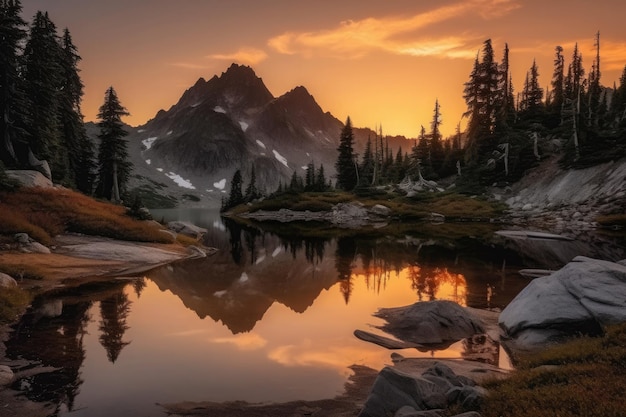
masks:
[[[286,32],[268,45],[281,54],[313,56],[326,53],[359,58],[373,51],[411,56],[468,58],[475,55],[476,37],[427,37],[423,29],[469,14],[484,19],[501,17],[521,7],[513,0],[473,0],[439,7],[410,17],[366,18],[341,22],[334,29],[317,32]],[[400,39],[402,37],[402,39]],[[410,38],[410,39],[406,39]]]

